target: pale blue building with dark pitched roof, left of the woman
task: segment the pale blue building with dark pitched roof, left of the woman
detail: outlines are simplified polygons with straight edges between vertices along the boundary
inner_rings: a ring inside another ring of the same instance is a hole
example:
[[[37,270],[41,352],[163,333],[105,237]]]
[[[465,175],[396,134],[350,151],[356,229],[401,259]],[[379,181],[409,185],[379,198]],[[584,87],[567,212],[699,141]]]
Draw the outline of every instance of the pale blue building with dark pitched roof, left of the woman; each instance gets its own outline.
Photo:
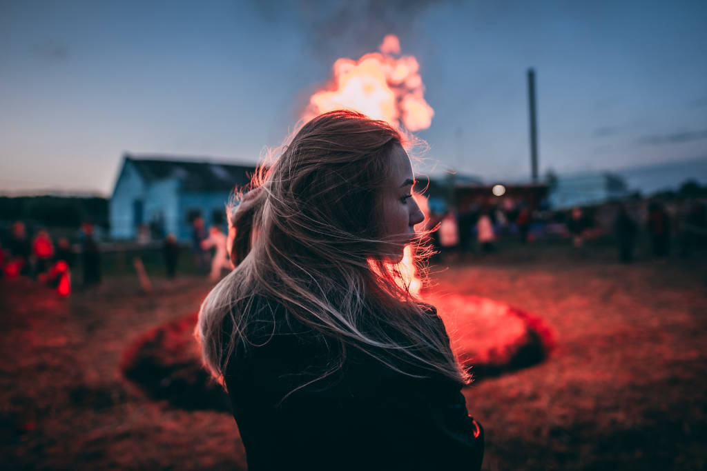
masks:
[[[175,234],[186,241],[197,215],[207,227],[225,227],[230,192],[253,172],[255,166],[126,154],[109,203],[110,237],[135,239],[148,227],[153,238]]]

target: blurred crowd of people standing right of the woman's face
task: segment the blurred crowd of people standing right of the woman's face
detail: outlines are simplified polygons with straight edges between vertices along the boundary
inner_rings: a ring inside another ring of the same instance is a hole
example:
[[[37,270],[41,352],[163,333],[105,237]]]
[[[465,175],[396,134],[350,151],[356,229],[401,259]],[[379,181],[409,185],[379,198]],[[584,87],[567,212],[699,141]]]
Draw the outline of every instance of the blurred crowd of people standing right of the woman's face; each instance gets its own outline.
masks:
[[[473,204],[464,209],[430,214],[426,229],[438,252],[447,255],[489,254],[498,249],[498,239],[518,239],[523,244],[536,239],[569,239],[578,251],[587,239],[612,236],[619,260],[633,261],[638,237],[645,233],[650,253],[656,258],[670,254],[677,245],[686,256],[707,242],[707,206],[699,200],[682,204],[662,201],[606,203],[568,210],[531,210],[523,202]]]

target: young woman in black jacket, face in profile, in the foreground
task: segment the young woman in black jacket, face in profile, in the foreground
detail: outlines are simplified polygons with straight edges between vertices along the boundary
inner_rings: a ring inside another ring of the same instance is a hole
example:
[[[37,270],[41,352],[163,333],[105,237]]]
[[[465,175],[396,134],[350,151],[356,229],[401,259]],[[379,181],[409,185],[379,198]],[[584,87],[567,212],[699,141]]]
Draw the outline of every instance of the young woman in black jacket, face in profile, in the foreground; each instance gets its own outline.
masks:
[[[231,214],[235,270],[204,300],[197,338],[250,471],[480,469],[469,377],[397,269],[424,219],[413,185],[395,129],[335,111]]]

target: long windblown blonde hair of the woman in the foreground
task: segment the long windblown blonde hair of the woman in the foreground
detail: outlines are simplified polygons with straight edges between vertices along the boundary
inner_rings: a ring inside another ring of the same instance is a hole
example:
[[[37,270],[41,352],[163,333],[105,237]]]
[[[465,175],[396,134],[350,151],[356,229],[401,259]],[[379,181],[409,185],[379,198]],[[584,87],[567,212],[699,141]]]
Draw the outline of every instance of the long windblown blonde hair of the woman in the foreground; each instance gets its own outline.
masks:
[[[383,121],[334,111],[309,121],[269,167],[238,220],[235,265],[201,304],[196,335],[204,363],[223,378],[229,360],[252,345],[264,314],[254,297],[283,305],[288,315],[339,347],[336,371],[355,348],[409,376],[442,374],[467,383],[443,326],[415,299],[385,253],[380,196],[401,135]],[[284,319],[274,319],[275,322]],[[223,332],[228,326],[227,332]],[[420,374],[423,371],[423,374]]]

